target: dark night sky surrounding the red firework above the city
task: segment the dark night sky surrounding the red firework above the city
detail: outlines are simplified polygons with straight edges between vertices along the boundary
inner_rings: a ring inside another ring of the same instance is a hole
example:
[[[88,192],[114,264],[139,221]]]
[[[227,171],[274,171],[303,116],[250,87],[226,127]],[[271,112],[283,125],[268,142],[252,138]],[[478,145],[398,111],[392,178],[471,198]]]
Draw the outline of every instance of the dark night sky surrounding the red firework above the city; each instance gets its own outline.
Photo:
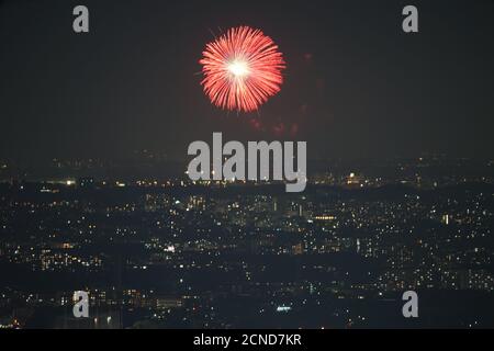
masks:
[[[76,4],[89,34],[72,32]],[[418,34],[402,32],[405,4]],[[217,110],[199,84],[212,33],[240,24],[288,63],[259,114]],[[308,158],[494,157],[493,34],[491,0],[0,1],[0,157],[186,158],[214,131],[307,140]]]

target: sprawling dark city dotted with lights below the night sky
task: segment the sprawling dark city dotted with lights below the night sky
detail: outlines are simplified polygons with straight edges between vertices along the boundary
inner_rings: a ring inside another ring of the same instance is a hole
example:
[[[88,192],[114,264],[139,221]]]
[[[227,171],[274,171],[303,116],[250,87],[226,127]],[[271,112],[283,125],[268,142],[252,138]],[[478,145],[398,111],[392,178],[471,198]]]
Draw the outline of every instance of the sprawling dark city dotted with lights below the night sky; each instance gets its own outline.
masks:
[[[435,167],[323,172],[302,194],[279,182],[3,182],[0,325],[491,328],[494,176]],[[401,314],[408,290],[420,318]],[[91,318],[71,316],[75,291],[89,293]]]

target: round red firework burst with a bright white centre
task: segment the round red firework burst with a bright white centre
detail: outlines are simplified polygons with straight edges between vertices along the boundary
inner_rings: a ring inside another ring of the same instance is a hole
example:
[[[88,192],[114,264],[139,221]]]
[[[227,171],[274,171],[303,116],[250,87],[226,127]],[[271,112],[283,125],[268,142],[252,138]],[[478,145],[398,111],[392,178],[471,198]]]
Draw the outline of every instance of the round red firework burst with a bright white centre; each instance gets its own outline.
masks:
[[[280,91],[283,55],[260,30],[229,29],[202,54],[201,84],[221,109],[251,112]]]

